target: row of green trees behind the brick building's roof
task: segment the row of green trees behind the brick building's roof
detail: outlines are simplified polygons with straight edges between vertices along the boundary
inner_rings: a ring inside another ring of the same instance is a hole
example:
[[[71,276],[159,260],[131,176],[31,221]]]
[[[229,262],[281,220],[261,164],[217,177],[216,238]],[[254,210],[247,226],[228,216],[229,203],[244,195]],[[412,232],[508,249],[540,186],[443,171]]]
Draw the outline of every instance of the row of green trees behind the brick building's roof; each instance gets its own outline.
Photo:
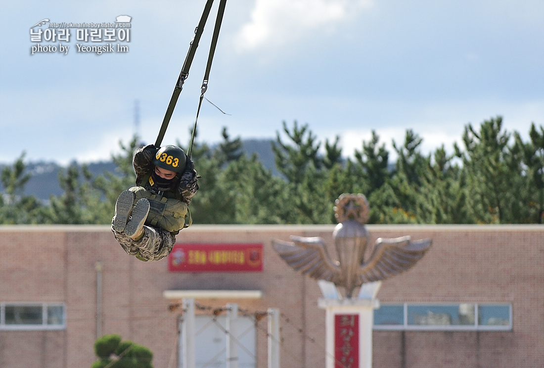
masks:
[[[393,142],[394,162],[375,131],[345,159],[338,137],[322,145],[307,124],[296,121],[292,126],[284,121],[282,132],[273,143],[280,176],[257,156],[243,154],[242,140],[231,138],[226,127],[213,149],[194,142],[191,158],[201,176],[190,205],[195,224],[334,223],[333,203],[342,193],[366,195],[369,223],[544,222],[542,126],[531,125],[530,140],[524,142],[520,133],[503,130],[500,116],[467,124],[453,155],[444,146],[423,155],[423,139],[406,130],[404,142]],[[93,177],[76,163],[61,170],[64,192],[46,204],[24,194],[31,174],[23,152],[0,172],[0,223],[109,224],[119,193],[134,185],[138,142],[138,137],[119,142],[113,173]],[[132,364],[131,357],[115,366]]]

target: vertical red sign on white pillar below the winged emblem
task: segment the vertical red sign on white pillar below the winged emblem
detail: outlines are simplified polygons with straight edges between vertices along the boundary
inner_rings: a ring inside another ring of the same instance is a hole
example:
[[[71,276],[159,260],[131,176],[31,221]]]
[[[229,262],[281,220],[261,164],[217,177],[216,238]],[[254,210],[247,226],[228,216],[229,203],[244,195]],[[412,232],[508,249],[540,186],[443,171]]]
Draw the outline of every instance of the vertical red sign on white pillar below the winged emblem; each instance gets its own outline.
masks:
[[[335,368],[359,366],[359,315],[335,315]]]

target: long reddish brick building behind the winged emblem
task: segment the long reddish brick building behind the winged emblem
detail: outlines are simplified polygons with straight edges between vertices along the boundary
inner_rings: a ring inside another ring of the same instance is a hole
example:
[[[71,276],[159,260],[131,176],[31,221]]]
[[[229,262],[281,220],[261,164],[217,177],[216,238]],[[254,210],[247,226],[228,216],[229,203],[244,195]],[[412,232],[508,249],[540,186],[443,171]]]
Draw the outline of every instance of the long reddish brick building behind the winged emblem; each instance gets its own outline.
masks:
[[[382,283],[375,368],[544,366],[544,226],[367,228],[372,243],[403,235],[433,241],[414,268]],[[271,240],[322,236],[332,246],[332,230],[193,225],[178,243],[262,244],[262,271],[187,273],[169,271],[171,258],[141,262],[128,256],[108,226],[2,226],[0,367],[90,367],[93,342],[110,333],[149,347],[155,367],[177,367],[176,295],[188,290],[216,291],[213,298],[196,294],[198,313],[208,318],[204,325],[220,322],[227,303],[236,303],[247,318],[249,345],[241,352],[249,363],[241,361],[240,368],[267,366],[267,320],[261,317],[268,308],[281,312],[281,366],[324,367],[319,287],[290,269]],[[225,290],[251,296],[217,292]],[[214,344],[202,336],[197,349]]]

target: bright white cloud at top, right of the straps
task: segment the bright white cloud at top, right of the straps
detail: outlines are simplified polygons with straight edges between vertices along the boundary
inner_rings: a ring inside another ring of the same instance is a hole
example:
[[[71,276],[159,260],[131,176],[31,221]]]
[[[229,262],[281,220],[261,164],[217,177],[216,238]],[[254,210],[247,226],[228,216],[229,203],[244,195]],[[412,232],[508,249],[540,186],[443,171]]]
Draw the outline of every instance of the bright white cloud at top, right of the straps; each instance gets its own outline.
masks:
[[[372,0],[257,0],[236,38],[238,50],[279,46],[318,29],[330,30]]]

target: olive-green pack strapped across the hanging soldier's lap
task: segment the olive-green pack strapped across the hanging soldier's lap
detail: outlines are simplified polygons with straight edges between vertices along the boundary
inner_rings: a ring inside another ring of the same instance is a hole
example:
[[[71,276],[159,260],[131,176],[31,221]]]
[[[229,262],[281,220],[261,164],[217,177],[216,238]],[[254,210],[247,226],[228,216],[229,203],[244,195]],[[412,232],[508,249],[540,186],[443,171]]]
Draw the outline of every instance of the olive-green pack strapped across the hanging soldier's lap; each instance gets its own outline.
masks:
[[[132,187],[128,190],[136,195],[135,202],[140,198],[149,200],[149,214],[145,220],[147,226],[177,234],[193,222],[189,207],[179,199],[153,194],[144,187]]]

